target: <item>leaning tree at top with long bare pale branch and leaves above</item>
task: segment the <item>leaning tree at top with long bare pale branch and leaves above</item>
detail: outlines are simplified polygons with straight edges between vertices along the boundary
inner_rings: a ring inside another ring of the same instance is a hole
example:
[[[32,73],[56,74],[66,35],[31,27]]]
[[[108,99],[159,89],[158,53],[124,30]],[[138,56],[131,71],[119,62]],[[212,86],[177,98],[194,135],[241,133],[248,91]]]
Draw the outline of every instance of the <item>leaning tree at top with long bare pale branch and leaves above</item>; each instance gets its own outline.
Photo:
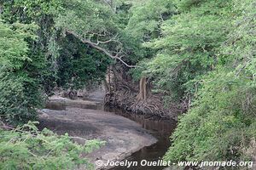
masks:
[[[119,41],[117,19],[111,7],[105,2],[73,0],[66,2],[64,8],[65,11],[55,19],[56,26],[64,33],[73,35],[111,59],[134,67],[122,59],[125,51]]]

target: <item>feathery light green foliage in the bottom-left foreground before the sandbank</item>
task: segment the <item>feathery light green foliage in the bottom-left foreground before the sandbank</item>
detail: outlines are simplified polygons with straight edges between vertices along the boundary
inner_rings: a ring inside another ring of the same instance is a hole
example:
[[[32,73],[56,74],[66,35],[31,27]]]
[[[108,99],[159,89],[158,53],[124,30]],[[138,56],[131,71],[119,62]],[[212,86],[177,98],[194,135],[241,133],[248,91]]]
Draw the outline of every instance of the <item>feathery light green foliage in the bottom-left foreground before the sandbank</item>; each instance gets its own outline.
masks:
[[[10,131],[0,128],[1,169],[93,169],[81,154],[99,149],[104,142],[87,140],[84,145],[76,144],[67,133],[59,136],[46,128],[38,131],[36,123],[28,122]]]

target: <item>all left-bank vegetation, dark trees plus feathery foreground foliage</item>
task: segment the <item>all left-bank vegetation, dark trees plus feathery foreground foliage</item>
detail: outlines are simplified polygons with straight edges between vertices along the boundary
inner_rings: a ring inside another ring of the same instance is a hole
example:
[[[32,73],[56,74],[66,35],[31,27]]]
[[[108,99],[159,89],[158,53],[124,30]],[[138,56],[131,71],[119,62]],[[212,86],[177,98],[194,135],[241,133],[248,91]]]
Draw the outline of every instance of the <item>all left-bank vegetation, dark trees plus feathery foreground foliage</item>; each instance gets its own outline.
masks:
[[[93,169],[81,155],[103,144],[88,140],[80,145],[67,134],[58,136],[47,129],[38,131],[29,122],[37,119],[45,94],[56,84],[65,87],[76,79],[77,84],[72,87],[79,87],[83,81],[100,81],[109,63],[108,58],[96,55],[96,50],[90,51],[91,48],[72,38],[63,40],[53,20],[53,12],[61,4],[61,1],[0,1],[0,122],[20,125],[6,129],[1,124],[1,169],[79,166]],[[74,49],[70,46],[64,50],[70,42]],[[98,60],[92,59],[93,56]],[[88,67],[84,68],[84,64]],[[73,70],[71,66],[78,69]],[[22,125],[25,122],[28,124]]]

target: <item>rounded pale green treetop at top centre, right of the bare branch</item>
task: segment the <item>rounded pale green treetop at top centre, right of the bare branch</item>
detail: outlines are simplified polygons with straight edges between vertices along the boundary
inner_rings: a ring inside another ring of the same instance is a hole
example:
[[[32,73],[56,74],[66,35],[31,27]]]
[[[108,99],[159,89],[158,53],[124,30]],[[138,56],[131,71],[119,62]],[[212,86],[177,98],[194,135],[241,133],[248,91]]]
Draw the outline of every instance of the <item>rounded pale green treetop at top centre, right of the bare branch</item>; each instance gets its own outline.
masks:
[[[136,3],[130,9],[131,17],[125,32],[139,42],[146,42],[160,36],[160,24],[175,14],[172,1],[157,0]]]

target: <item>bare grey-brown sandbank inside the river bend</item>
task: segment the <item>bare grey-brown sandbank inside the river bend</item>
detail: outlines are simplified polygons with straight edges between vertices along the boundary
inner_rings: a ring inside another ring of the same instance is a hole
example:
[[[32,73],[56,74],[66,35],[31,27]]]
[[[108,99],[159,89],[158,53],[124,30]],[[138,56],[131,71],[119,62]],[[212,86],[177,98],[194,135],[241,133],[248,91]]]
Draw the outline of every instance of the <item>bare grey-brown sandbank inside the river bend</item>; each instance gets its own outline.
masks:
[[[52,98],[51,109],[42,110],[40,128],[48,127],[55,133],[69,133],[83,139],[101,139],[106,145],[86,157],[95,163],[100,160],[105,167],[107,161],[121,161],[132,153],[157,142],[148,130],[137,122],[108,111],[83,109],[87,106],[97,108],[100,103],[94,101]],[[57,107],[60,104],[60,107]],[[82,108],[80,106],[83,106]],[[79,107],[79,108],[78,108]],[[83,144],[84,140],[76,139]]]

